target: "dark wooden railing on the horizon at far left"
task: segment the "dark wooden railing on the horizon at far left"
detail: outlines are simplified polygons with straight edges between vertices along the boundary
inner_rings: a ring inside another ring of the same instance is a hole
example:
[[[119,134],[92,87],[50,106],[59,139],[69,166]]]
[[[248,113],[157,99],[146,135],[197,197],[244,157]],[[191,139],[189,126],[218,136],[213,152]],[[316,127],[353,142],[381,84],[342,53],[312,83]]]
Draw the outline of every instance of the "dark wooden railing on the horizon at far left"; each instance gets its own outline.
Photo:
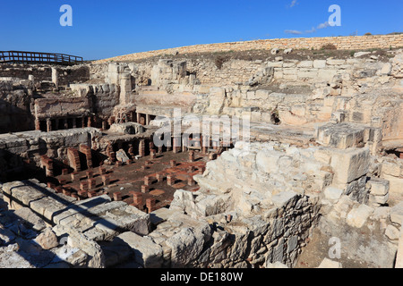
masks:
[[[0,63],[54,63],[73,65],[83,63],[83,60],[81,56],[75,55],[21,51],[0,51]]]

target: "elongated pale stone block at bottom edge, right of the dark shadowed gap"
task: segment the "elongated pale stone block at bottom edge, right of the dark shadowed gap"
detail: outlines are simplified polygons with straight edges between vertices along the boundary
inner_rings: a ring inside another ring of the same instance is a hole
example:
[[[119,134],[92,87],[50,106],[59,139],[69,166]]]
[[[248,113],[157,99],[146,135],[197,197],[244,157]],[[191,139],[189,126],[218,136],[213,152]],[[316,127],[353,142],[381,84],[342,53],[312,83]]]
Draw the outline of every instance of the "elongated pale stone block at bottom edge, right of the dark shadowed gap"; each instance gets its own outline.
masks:
[[[144,268],[159,268],[162,265],[162,248],[148,237],[141,237],[132,231],[124,232],[115,240],[122,240],[134,252],[134,260]]]

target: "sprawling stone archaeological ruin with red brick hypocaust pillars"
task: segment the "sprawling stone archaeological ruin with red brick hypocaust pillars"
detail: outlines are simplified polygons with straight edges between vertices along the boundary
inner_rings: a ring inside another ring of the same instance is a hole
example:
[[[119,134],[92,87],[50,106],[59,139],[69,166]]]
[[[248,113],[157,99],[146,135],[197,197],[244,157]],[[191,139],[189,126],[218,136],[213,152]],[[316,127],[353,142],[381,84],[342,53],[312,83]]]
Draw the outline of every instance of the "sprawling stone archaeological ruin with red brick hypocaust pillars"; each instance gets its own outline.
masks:
[[[0,268],[403,267],[403,34],[0,60],[0,119]]]

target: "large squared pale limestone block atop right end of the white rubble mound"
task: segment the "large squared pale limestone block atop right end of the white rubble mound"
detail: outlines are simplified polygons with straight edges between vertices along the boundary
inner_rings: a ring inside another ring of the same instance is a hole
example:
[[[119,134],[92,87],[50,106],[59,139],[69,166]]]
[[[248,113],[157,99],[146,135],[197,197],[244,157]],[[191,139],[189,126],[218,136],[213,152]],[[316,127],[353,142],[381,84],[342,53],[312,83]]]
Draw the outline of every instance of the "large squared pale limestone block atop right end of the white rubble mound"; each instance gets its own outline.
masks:
[[[369,149],[365,147],[335,150],[330,165],[335,172],[334,182],[343,184],[354,181],[369,171]]]

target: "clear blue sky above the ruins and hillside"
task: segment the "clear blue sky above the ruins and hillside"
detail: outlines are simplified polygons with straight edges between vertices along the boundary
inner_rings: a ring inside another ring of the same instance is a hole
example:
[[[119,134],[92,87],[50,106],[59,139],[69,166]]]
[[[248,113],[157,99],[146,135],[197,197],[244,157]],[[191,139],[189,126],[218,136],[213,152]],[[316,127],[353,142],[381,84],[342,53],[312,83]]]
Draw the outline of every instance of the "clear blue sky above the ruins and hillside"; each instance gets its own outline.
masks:
[[[73,8],[73,27],[59,23],[63,4]],[[331,4],[341,8],[340,27],[326,25]],[[2,0],[0,7],[0,50],[86,60],[196,44],[403,31],[401,0]]]

